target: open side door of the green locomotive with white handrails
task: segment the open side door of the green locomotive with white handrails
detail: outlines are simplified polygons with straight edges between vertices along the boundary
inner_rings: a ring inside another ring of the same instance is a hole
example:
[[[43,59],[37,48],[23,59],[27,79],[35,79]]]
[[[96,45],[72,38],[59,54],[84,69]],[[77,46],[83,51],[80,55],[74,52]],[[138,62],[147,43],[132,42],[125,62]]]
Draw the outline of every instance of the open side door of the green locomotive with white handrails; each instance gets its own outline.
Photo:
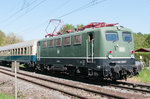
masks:
[[[94,32],[87,33],[88,38],[86,40],[86,54],[87,54],[87,62],[93,63],[94,57]]]

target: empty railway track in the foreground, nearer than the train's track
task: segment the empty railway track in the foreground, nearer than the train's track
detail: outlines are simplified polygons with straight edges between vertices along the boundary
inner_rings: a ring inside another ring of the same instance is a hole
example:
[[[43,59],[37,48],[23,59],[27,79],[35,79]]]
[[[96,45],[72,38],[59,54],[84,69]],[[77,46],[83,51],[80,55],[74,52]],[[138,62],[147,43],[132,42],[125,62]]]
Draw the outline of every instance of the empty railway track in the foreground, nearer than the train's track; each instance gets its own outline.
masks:
[[[0,67],[0,72],[14,77],[14,73],[10,69]],[[83,88],[76,85],[66,84],[62,82],[57,82],[45,78],[41,78],[35,75],[30,75],[22,72],[18,72],[18,79],[25,80],[36,85],[53,89],[59,92],[62,92],[66,95],[69,95],[73,98],[81,99],[101,99],[101,98],[111,98],[111,99],[125,99],[122,96],[117,96],[114,94],[108,94],[101,92],[100,90],[94,90],[89,88]]]

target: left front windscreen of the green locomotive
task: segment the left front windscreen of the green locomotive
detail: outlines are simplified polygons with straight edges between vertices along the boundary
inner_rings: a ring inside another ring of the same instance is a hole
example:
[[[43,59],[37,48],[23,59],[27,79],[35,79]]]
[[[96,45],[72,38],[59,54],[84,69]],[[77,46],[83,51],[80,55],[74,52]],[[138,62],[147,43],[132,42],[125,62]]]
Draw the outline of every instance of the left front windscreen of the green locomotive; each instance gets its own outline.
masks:
[[[106,40],[107,41],[117,41],[118,40],[117,32],[106,32]]]

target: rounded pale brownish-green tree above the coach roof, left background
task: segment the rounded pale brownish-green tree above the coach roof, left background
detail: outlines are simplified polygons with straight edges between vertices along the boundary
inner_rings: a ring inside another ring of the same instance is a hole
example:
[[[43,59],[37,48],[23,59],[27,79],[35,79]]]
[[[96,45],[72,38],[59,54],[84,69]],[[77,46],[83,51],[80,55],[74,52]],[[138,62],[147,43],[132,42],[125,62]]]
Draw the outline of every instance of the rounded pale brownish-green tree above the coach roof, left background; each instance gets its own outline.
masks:
[[[14,33],[9,33],[5,37],[5,45],[14,44],[22,41],[23,39],[21,37],[16,36]]]

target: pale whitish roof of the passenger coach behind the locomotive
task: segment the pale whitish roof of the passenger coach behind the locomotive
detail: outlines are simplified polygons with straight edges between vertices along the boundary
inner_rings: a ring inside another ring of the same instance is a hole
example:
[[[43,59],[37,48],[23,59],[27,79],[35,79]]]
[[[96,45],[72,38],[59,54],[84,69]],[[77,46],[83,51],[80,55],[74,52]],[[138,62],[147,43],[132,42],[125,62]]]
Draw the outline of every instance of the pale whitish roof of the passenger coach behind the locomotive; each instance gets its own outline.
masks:
[[[35,45],[35,43],[37,41],[38,41],[38,39],[25,41],[25,42],[20,42],[20,43],[15,43],[15,44],[11,44],[11,45],[6,45],[6,46],[3,46],[3,47],[0,47],[0,51],[1,50],[14,49],[14,48],[23,48],[23,47],[33,46],[33,45]]]

